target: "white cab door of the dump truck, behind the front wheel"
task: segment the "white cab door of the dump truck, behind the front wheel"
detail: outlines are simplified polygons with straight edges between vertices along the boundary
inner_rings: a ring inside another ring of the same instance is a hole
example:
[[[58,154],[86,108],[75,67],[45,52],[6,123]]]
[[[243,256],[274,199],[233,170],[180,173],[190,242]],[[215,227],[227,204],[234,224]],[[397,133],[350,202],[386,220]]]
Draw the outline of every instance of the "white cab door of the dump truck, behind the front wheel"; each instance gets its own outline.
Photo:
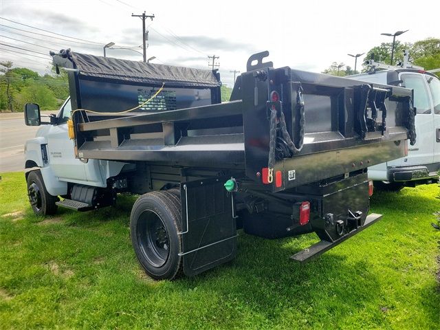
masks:
[[[75,158],[74,140],[67,134],[67,120],[72,107],[70,98],[66,100],[58,113],[58,122],[50,126],[47,134],[47,153],[54,174],[61,181],[87,181],[85,164]]]

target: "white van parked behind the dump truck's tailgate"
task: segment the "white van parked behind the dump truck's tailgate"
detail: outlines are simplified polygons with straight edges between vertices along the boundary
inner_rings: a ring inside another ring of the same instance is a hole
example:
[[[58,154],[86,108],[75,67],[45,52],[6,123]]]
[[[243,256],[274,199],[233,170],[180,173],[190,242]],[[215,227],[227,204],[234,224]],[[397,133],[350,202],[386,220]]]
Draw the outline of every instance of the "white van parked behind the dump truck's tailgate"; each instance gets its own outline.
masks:
[[[417,142],[408,144],[408,156],[371,166],[369,179],[377,188],[400,190],[404,186],[437,183],[440,170],[440,80],[421,69],[386,69],[349,78],[369,83],[399,85],[414,90],[417,109]]]

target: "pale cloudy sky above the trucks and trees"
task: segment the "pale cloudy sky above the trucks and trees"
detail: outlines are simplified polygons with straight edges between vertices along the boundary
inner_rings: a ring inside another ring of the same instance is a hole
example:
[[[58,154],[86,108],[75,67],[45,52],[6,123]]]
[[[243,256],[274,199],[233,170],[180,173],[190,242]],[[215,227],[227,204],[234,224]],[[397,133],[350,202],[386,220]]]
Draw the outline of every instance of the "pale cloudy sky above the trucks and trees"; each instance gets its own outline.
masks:
[[[398,37],[401,42],[440,38],[440,1],[432,0],[0,0],[0,61],[43,74],[50,50],[102,56],[110,42],[130,49],[108,49],[107,56],[142,61],[142,20],[131,14],[144,11],[155,15],[146,21],[146,56],[156,57],[151,63],[208,69],[208,56],[219,56],[228,86],[231,71],[245,72],[249,56],[264,50],[274,67],[322,72],[333,62],[353,68],[347,54],[391,42],[384,32],[409,30]]]

